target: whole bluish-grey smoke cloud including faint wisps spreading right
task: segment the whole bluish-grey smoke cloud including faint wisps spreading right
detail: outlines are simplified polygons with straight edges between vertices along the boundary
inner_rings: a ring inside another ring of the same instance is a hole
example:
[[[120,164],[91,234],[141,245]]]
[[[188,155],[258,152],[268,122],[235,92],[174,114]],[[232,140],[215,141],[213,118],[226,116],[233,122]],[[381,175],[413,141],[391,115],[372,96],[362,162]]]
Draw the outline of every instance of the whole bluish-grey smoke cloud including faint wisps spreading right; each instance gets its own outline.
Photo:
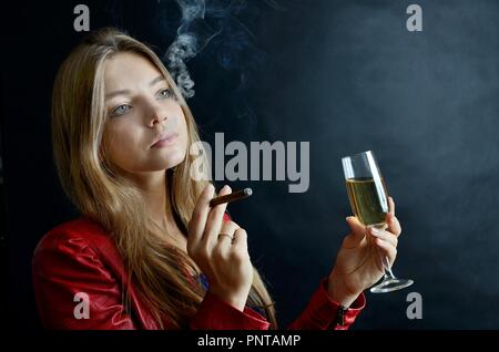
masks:
[[[292,1],[292,0],[287,0]],[[297,0],[293,0],[297,1]],[[218,64],[228,71],[241,71],[241,86],[244,89],[251,70],[262,64],[264,53],[254,44],[255,37],[243,23],[258,14],[258,2],[248,7],[246,0],[175,0],[181,10],[181,24],[174,42],[166,50],[163,61],[185,99],[194,96],[194,81],[186,62],[198,54],[215,37],[215,55]],[[274,10],[285,10],[278,0],[263,0]],[[256,4],[256,6],[255,6]],[[211,27],[213,25],[213,27]]]

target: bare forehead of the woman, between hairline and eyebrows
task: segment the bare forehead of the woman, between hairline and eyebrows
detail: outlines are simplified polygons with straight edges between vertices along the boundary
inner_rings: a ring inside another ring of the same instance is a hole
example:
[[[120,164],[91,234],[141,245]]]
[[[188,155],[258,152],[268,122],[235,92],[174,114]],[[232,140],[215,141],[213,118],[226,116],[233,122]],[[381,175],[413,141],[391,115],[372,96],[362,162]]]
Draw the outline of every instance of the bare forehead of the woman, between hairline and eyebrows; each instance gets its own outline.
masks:
[[[146,58],[133,52],[120,52],[104,63],[105,92],[145,85],[161,74]]]

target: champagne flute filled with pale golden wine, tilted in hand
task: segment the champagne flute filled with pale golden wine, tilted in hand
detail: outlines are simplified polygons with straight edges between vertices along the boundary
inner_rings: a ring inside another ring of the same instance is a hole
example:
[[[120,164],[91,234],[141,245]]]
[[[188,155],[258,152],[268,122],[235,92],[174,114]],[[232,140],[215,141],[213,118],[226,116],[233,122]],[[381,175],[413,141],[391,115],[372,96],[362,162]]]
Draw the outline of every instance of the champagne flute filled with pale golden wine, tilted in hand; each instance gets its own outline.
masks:
[[[386,229],[385,218],[389,213],[388,193],[374,153],[368,151],[345,156],[342,164],[354,215],[367,228]],[[380,257],[385,276],[380,283],[370,288],[373,293],[391,292],[414,283],[409,279],[396,278],[388,257],[384,255]]]

